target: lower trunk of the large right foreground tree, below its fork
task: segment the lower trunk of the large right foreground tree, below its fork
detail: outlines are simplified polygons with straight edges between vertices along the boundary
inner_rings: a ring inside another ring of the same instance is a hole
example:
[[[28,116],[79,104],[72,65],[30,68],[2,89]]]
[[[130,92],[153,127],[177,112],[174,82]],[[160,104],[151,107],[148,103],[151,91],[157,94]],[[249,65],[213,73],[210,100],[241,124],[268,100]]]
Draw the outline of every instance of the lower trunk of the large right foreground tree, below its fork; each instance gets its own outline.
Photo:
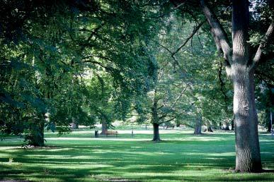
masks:
[[[255,108],[253,71],[235,68],[234,116],[236,134],[236,171],[262,170],[258,141],[258,116]]]

